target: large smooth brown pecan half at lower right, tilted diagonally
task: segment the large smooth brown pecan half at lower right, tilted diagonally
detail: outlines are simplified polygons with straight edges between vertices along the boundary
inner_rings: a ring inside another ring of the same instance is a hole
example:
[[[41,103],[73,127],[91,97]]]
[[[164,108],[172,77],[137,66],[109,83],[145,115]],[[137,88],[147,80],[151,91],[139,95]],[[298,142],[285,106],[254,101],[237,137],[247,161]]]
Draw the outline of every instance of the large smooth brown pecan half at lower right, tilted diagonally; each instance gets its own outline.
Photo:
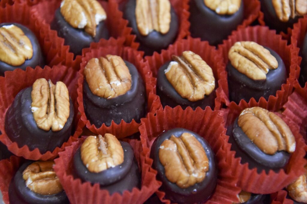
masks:
[[[293,153],[295,150],[296,142],[290,128],[278,115],[264,108],[244,109],[239,115],[238,125],[266,154],[281,150]]]

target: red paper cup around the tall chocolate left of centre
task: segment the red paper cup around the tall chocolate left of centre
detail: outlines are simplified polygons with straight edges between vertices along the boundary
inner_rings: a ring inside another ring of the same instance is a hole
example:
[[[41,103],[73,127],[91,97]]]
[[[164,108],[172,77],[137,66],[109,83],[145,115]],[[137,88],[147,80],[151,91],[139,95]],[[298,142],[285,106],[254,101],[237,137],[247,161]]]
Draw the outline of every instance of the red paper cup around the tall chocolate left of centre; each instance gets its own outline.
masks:
[[[161,108],[161,103],[159,101],[158,96],[155,94],[155,81],[156,79],[152,77],[152,73],[147,65],[142,59],[143,53],[137,51],[131,47],[123,47],[123,46],[114,46],[114,47],[99,47],[98,49],[91,49],[89,52],[84,53],[84,57],[82,58],[82,63],[80,65],[79,77],[78,77],[78,104],[79,111],[81,114],[81,120],[86,124],[86,127],[91,130],[93,133],[98,134],[99,132],[114,132],[117,138],[124,138],[131,134],[138,132],[138,127],[140,123],[137,123],[134,119],[130,123],[126,123],[125,121],[121,121],[121,123],[116,124],[112,121],[111,126],[107,127],[103,124],[101,127],[95,127],[95,125],[91,124],[87,119],[84,106],[83,106],[83,81],[84,81],[84,67],[87,62],[96,57],[101,57],[105,55],[118,55],[121,56],[124,60],[131,62],[137,68],[140,76],[143,78],[144,85],[146,86],[146,94],[147,94],[147,111],[155,112],[157,109]]]

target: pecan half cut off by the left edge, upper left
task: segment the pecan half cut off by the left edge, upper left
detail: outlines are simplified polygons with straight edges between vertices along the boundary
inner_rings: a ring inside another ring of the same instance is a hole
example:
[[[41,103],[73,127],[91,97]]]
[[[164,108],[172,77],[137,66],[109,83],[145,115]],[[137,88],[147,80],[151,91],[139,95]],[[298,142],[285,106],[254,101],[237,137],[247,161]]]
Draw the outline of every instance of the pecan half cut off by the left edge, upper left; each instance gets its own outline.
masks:
[[[32,56],[32,43],[20,28],[15,25],[0,28],[0,61],[19,66]]]

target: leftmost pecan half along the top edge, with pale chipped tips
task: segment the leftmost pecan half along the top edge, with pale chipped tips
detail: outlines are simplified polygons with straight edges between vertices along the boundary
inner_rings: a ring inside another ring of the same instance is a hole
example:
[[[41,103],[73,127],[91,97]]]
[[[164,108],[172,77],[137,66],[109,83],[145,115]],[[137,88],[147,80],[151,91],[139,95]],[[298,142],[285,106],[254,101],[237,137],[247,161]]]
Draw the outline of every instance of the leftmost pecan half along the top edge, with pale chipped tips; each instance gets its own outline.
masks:
[[[93,37],[99,22],[107,19],[106,12],[96,0],[63,0],[60,12],[73,28],[84,28]]]

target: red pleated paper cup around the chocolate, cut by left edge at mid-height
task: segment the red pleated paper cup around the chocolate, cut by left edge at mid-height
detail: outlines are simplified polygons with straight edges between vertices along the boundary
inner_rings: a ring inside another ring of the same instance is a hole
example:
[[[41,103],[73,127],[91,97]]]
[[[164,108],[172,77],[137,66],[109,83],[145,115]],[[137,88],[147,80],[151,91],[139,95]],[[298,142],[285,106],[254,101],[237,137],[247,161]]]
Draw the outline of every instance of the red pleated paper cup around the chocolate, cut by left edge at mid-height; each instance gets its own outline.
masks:
[[[61,147],[56,147],[52,152],[48,151],[41,154],[36,148],[34,150],[29,150],[27,145],[18,147],[16,142],[12,142],[6,135],[4,122],[6,111],[12,104],[17,93],[26,87],[32,86],[34,81],[38,78],[51,79],[52,82],[63,81],[69,91],[69,96],[72,98],[74,109],[75,109],[75,127],[76,130],[74,134],[64,142]],[[60,151],[64,150],[65,146],[70,145],[76,138],[81,134],[82,127],[84,124],[80,121],[80,115],[78,114],[78,105],[76,100],[76,84],[77,84],[77,72],[72,68],[67,68],[65,66],[53,66],[52,68],[45,66],[44,69],[37,66],[36,69],[27,67],[27,69],[15,69],[11,72],[5,72],[5,77],[0,77],[0,130],[2,134],[0,135],[0,141],[7,146],[10,152],[17,156],[24,157],[30,160],[48,160],[53,159],[57,156]]]

